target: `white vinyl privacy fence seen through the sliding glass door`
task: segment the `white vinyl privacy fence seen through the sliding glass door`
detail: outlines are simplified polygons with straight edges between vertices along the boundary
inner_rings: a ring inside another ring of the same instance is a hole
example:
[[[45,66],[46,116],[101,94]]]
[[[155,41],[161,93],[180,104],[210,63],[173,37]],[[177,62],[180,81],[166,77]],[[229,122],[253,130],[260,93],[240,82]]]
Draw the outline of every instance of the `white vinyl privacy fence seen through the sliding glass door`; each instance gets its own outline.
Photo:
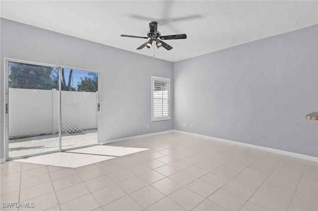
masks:
[[[62,132],[97,128],[97,92],[62,91]],[[59,131],[59,91],[9,89],[9,137]]]

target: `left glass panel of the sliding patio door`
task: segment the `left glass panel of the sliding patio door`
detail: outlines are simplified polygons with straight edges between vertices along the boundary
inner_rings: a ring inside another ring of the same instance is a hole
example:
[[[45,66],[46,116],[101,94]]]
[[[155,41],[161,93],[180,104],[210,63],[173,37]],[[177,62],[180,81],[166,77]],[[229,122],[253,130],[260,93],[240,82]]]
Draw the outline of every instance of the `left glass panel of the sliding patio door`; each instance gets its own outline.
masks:
[[[8,62],[9,158],[59,150],[59,68]]]

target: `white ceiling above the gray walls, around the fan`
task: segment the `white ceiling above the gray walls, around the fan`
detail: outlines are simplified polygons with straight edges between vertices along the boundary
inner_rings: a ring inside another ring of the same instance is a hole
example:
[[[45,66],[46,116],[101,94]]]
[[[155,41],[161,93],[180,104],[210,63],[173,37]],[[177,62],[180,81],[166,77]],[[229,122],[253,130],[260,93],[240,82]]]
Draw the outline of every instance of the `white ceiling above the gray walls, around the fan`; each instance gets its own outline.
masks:
[[[157,58],[173,62],[318,24],[317,0],[0,3],[2,18],[148,56],[153,47],[136,50],[147,40],[120,35],[147,37],[149,23],[157,21],[161,35],[187,35],[186,40],[165,41],[173,47],[170,51],[155,49]]]

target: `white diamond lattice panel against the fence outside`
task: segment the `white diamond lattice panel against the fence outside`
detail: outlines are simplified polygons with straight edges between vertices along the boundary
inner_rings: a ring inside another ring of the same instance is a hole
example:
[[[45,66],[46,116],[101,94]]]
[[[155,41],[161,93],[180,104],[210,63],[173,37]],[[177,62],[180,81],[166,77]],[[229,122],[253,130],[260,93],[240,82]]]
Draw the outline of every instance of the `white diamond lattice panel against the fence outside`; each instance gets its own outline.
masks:
[[[79,104],[62,104],[62,133],[80,132]]]

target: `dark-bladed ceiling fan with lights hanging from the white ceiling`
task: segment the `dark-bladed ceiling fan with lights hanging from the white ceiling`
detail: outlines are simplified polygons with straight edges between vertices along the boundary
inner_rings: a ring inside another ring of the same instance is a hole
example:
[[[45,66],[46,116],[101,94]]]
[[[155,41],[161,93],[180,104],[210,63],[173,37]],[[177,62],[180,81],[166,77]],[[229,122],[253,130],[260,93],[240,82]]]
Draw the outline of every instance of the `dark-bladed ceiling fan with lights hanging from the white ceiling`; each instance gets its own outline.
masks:
[[[161,36],[160,32],[157,31],[158,23],[156,21],[152,21],[149,23],[149,28],[150,31],[147,34],[147,37],[139,37],[139,36],[132,36],[132,35],[120,35],[121,37],[132,37],[132,38],[142,38],[142,39],[148,39],[146,43],[141,45],[140,47],[137,48],[137,50],[141,50],[145,47],[149,48],[152,46],[152,43],[155,41],[157,48],[163,47],[166,50],[171,50],[172,47],[163,42],[162,40],[178,40],[178,39],[186,39],[187,35],[186,34],[179,34],[179,35],[166,35],[166,36]]]

